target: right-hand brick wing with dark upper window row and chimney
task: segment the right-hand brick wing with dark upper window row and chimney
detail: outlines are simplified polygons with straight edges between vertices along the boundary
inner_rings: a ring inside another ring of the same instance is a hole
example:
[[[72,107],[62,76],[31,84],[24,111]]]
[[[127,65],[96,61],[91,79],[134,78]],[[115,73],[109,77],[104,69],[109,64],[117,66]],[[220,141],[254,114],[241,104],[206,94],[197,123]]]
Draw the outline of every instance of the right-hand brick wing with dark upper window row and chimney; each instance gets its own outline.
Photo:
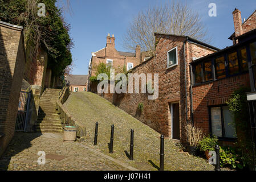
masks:
[[[224,143],[236,138],[235,127],[229,125],[232,115],[225,102],[242,86],[255,92],[256,11],[242,23],[241,11],[235,9],[233,19],[235,33],[230,39],[234,45],[191,63],[194,124]]]

